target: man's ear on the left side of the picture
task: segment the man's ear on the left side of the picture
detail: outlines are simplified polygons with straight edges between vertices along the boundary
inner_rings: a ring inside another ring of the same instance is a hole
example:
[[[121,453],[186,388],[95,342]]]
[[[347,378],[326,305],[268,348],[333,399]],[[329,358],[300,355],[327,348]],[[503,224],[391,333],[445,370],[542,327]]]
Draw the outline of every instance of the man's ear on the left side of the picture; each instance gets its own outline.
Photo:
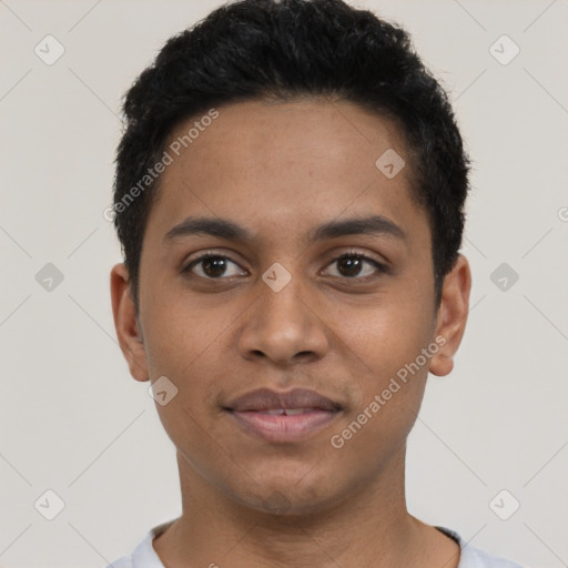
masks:
[[[116,337],[129,364],[130,374],[136,381],[148,381],[144,338],[136,317],[136,307],[130,293],[129,271],[123,263],[112,267],[111,298]]]

